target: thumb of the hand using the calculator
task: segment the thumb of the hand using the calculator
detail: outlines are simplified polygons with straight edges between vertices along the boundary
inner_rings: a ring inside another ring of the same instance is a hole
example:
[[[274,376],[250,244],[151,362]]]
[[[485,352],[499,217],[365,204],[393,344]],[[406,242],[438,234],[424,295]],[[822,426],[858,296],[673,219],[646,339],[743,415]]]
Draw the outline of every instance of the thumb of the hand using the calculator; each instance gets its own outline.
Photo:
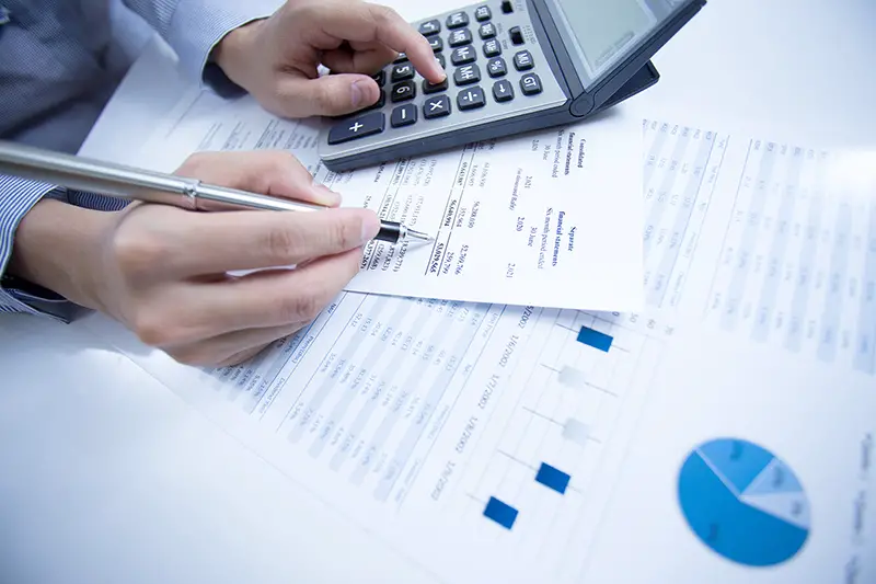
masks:
[[[366,75],[337,73],[283,82],[279,107],[287,117],[338,116],[377,103],[380,88]]]

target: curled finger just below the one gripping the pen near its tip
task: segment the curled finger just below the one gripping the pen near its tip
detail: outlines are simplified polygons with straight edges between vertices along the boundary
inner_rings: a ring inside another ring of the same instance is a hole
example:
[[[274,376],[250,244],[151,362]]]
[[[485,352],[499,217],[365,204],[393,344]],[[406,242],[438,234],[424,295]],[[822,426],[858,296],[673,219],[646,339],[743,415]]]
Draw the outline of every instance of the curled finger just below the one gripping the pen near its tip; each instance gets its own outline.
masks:
[[[235,331],[311,322],[359,272],[361,259],[357,249],[292,271],[185,286],[166,304],[166,322],[161,323],[169,335],[164,344],[185,345]]]

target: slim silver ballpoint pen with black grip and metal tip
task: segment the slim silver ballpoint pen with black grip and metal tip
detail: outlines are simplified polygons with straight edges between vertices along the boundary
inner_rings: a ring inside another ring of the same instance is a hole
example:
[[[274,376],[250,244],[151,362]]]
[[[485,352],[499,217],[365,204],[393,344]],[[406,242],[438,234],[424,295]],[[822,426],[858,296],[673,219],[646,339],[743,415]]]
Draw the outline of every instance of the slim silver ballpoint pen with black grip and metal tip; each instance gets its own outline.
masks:
[[[176,176],[0,140],[0,173],[77,191],[196,211],[291,210],[326,207],[205,184]],[[390,243],[433,241],[403,224],[381,221],[374,238]]]

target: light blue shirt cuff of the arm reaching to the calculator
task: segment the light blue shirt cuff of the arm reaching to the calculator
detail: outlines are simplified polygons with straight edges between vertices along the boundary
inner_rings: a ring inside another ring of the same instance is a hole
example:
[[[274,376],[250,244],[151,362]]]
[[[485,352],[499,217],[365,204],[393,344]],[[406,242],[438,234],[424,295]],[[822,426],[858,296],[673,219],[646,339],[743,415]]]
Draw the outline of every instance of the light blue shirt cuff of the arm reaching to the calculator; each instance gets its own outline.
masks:
[[[218,93],[241,93],[243,90],[209,61],[216,45],[231,31],[274,14],[283,0],[186,0],[173,14],[168,44],[180,57],[183,72],[198,79]]]

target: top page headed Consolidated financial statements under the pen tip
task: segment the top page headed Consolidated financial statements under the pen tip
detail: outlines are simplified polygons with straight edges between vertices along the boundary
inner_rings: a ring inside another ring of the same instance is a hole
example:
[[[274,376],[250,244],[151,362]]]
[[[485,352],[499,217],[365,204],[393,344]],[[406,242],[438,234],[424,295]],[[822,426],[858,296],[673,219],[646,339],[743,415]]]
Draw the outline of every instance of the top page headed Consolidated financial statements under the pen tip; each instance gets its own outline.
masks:
[[[353,122],[350,122],[353,123]],[[349,291],[474,302],[634,310],[642,302],[638,123],[622,115],[335,173],[322,124],[279,119],[251,98],[193,92],[142,159],[173,171],[200,150],[281,149],[344,206],[435,237],[371,242]]]

